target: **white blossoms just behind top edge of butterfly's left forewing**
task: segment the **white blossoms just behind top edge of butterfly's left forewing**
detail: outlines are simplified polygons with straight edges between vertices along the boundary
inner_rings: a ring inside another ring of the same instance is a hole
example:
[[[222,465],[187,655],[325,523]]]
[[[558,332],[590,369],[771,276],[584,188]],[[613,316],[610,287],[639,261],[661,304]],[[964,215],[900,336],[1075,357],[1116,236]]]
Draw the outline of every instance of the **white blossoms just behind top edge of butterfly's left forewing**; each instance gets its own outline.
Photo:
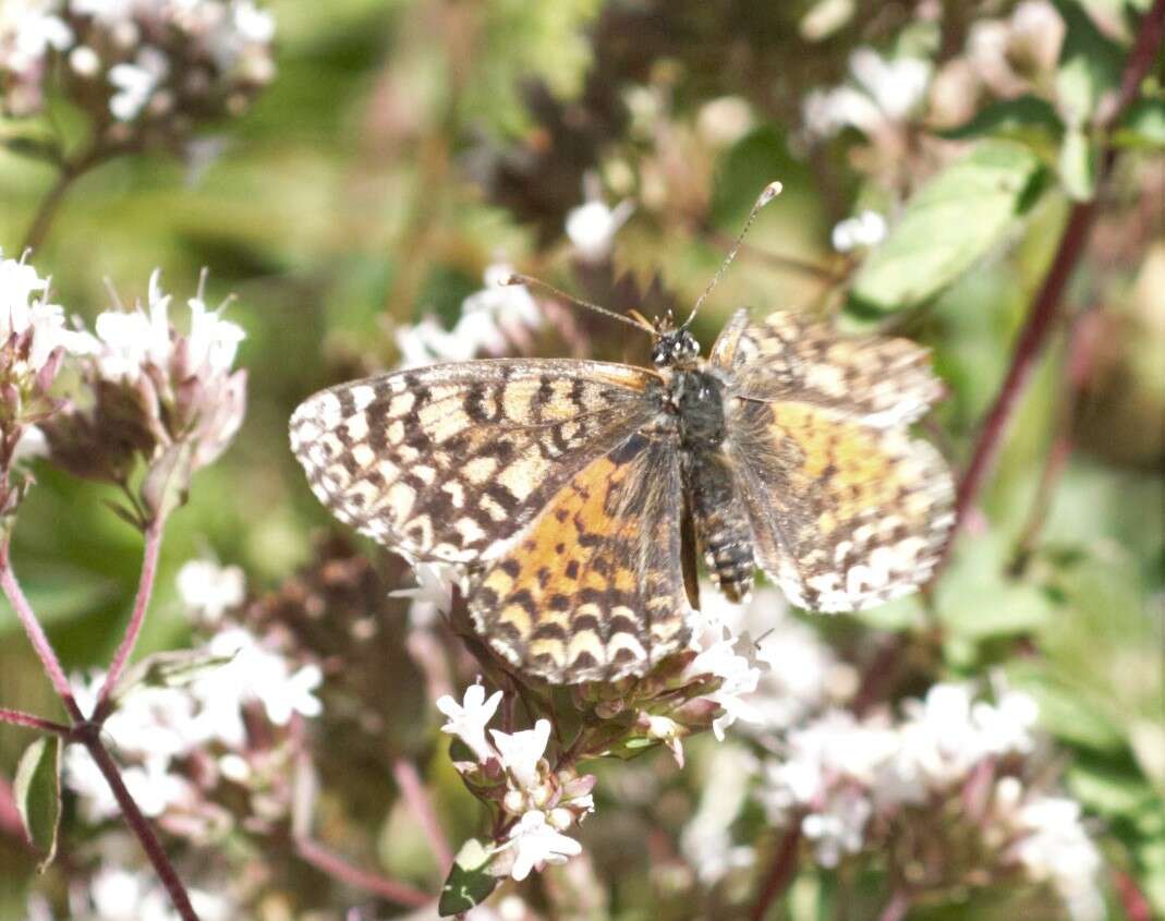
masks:
[[[466,361],[527,347],[530,331],[542,325],[543,316],[525,286],[504,283],[513,274],[514,267],[504,263],[486,268],[485,287],[465,298],[452,330],[446,330],[433,316],[397,329],[400,366]]]

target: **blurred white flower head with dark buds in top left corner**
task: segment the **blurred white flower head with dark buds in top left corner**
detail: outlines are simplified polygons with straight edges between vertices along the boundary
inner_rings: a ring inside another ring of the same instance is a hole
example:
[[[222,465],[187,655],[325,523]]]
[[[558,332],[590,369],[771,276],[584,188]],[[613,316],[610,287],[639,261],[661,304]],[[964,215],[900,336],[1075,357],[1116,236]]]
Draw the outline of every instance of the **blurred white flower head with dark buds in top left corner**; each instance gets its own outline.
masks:
[[[6,0],[0,5],[3,110],[35,114],[49,56],[97,85],[119,122],[235,113],[271,80],[275,23],[254,0]]]

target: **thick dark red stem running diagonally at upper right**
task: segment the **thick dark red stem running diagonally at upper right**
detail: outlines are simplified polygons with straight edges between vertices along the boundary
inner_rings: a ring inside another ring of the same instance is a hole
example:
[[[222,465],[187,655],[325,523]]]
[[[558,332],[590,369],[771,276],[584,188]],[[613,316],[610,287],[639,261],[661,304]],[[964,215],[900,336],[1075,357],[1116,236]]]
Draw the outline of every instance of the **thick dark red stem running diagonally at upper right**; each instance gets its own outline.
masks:
[[[1141,83],[1144,80],[1156,58],[1163,33],[1165,33],[1165,0],[1157,0],[1141,20],[1137,30],[1137,42],[1125,63],[1117,100],[1104,113],[1104,117],[1097,125],[1102,134],[1106,134],[1116,124],[1124,113],[1124,110],[1136,99]],[[1044,283],[1040,286],[1039,293],[1032,302],[1028,321],[1016,343],[1011,366],[1003,379],[1003,385],[995,398],[995,403],[983,421],[970,462],[967,464],[962,479],[959,481],[959,487],[955,492],[955,527],[952,530],[951,540],[947,542],[947,550],[949,550],[949,546],[954,541],[954,534],[958,532],[959,525],[966,518],[967,511],[983,486],[983,481],[998,450],[1000,442],[1007,431],[1008,422],[1011,420],[1011,414],[1019,402],[1019,398],[1024,393],[1031,372],[1036,366],[1036,359],[1039,358],[1048,335],[1055,326],[1064,291],[1088,241],[1088,233],[1096,217],[1096,202],[1103,192],[1106,182],[1113,171],[1115,160],[1116,150],[1110,143],[1106,143],[1101,156],[1094,197],[1087,202],[1079,202],[1073,206],[1068,216],[1068,222],[1064,235],[1060,238],[1055,255],[1052,259],[1051,268],[1048,268]]]

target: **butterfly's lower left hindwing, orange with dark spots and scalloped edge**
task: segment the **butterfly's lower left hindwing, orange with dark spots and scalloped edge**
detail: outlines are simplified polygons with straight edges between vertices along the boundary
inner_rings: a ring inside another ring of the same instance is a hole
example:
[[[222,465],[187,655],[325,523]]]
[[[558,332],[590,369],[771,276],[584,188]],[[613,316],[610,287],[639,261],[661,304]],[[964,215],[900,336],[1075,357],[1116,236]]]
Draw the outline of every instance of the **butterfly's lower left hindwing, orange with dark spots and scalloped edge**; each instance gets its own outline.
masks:
[[[469,598],[515,668],[555,683],[642,675],[687,645],[678,445],[634,435],[563,484]]]

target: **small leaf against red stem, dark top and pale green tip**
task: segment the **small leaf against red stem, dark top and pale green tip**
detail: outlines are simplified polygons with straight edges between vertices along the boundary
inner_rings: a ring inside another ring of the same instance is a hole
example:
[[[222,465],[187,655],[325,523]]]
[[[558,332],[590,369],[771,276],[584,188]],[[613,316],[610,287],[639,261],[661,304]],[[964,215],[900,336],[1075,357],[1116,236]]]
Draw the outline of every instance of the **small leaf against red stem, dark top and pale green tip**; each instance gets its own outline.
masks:
[[[1069,127],[1095,114],[1101,97],[1121,83],[1124,50],[1108,38],[1076,0],[1055,0],[1067,31],[1055,72],[1055,97]]]

